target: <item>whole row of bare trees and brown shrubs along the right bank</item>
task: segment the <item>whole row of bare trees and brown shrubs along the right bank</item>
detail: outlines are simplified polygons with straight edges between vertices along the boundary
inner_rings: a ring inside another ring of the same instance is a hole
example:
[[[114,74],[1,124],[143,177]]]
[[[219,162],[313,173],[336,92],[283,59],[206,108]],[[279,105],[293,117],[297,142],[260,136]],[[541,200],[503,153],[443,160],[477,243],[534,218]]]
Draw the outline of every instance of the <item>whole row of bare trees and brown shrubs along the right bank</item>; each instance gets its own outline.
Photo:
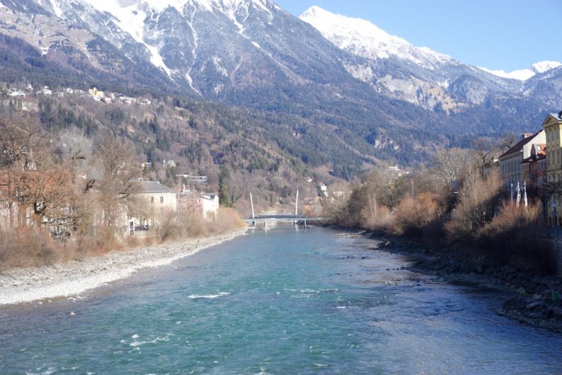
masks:
[[[483,146],[443,150],[430,168],[402,176],[377,168],[334,199],[329,213],[343,226],[415,236],[475,258],[486,255],[491,262],[553,272],[541,212],[544,200],[561,195],[562,188],[546,184],[529,192],[529,207],[517,207],[498,168],[491,168],[497,152]]]

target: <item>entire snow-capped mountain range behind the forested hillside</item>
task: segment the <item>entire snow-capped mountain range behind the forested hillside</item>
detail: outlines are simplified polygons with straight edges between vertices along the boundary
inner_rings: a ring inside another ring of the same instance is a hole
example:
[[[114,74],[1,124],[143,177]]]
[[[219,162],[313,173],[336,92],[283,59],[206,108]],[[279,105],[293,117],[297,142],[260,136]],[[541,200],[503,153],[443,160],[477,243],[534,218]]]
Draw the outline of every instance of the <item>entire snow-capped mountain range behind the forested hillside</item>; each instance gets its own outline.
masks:
[[[557,62],[490,71],[316,6],[296,18],[270,0],[0,4],[8,82],[25,76],[270,113],[277,120],[264,128],[282,122],[290,132],[273,139],[277,147],[313,166],[351,163],[349,173],[415,163],[476,135],[534,130],[562,106]]]

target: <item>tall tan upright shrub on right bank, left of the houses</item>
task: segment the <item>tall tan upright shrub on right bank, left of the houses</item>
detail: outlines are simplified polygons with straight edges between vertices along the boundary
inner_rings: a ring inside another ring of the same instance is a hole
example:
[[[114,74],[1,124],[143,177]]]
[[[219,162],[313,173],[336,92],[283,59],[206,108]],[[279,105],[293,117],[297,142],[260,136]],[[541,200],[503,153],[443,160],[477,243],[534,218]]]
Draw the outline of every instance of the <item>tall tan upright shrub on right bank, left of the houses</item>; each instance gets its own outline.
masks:
[[[478,173],[467,175],[462,181],[457,205],[445,223],[449,241],[465,241],[474,236],[474,231],[493,217],[495,201],[502,181],[496,173],[483,179]]]

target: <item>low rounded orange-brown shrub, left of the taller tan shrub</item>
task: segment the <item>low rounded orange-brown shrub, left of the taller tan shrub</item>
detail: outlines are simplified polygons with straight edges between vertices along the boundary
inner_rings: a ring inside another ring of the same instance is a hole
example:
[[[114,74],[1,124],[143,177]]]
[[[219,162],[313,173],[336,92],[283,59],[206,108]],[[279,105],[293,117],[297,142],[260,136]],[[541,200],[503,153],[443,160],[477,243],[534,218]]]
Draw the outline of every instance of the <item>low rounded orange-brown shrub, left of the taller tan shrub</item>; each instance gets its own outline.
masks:
[[[406,198],[396,209],[394,232],[410,236],[420,236],[426,226],[437,220],[442,214],[442,207],[437,195],[423,192],[415,199]]]

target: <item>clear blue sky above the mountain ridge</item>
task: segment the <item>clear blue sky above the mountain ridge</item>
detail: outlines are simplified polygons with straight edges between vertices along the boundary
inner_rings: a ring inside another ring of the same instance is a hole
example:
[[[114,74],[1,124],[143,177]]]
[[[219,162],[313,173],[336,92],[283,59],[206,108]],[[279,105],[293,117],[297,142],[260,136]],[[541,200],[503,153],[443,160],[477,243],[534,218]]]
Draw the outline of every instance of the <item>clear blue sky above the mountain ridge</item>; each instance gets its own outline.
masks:
[[[274,0],[299,16],[317,5],[364,18],[413,45],[488,69],[562,62],[561,0]]]

